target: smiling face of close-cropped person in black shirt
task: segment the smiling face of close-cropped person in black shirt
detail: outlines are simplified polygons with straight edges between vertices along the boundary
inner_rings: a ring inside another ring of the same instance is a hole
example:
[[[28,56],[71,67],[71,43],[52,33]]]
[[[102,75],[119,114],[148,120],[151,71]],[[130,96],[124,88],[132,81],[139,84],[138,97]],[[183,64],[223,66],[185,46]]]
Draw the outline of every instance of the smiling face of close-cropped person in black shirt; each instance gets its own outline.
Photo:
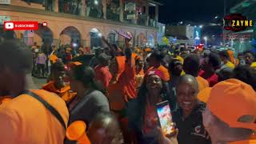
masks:
[[[196,86],[190,82],[182,82],[177,86],[176,91],[178,106],[182,110],[192,111],[197,103],[198,90]]]

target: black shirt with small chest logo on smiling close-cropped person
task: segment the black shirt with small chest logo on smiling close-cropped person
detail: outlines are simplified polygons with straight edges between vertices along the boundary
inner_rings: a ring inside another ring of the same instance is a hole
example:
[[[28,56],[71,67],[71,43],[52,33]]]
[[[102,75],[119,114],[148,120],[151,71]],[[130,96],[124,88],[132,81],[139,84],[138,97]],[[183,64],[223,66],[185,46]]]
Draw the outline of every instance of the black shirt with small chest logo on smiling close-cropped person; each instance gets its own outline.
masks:
[[[210,144],[210,136],[202,124],[202,110],[206,104],[200,103],[191,114],[183,119],[182,109],[174,111],[173,119],[178,128],[178,144]]]

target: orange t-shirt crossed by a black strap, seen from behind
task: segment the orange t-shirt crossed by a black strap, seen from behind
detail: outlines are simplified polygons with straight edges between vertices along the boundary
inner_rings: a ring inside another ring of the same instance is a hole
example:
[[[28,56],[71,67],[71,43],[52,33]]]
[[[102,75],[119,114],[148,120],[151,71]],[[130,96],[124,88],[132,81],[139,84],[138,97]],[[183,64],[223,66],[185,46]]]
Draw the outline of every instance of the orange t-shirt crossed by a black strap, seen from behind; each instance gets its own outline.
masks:
[[[58,95],[46,90],[30,90],[53,106],[67,125],[69,112]],[[21,94],[0,106],[1,144],[63,143],[62,124],[37,99]]]

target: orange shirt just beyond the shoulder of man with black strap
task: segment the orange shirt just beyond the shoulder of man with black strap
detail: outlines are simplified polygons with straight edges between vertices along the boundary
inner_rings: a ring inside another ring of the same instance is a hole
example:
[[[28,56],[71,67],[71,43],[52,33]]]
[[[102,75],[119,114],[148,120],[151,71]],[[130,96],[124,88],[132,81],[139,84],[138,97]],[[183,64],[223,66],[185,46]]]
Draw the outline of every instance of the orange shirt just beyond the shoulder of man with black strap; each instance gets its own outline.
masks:
[[[58,94],[65,102],[70,102],[77,95],[76,93],[70,92],[70,86],[65,86],[61,90],[58,90],[54,86],[54,81],[48,82],[45,86],[42,86],[42,89]]]

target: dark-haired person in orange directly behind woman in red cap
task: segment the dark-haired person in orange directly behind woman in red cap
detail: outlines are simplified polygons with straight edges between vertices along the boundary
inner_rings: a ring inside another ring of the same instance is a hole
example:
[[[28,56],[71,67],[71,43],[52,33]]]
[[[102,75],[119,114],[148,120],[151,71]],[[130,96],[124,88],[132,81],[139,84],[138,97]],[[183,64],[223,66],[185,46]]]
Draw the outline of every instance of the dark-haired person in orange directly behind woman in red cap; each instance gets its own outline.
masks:
[[[160,70],[162,74],[164,74],[164,81],[168,82],[170,81],[170,75],[166,67],[161,65],[162,58],[163,57],[161,55],[161,52],[159,50],[154,50],[154,52],[150,55],[150,58],[149,58],[149,63],[150,63],[149,70],[152,70],[152,69]]]

